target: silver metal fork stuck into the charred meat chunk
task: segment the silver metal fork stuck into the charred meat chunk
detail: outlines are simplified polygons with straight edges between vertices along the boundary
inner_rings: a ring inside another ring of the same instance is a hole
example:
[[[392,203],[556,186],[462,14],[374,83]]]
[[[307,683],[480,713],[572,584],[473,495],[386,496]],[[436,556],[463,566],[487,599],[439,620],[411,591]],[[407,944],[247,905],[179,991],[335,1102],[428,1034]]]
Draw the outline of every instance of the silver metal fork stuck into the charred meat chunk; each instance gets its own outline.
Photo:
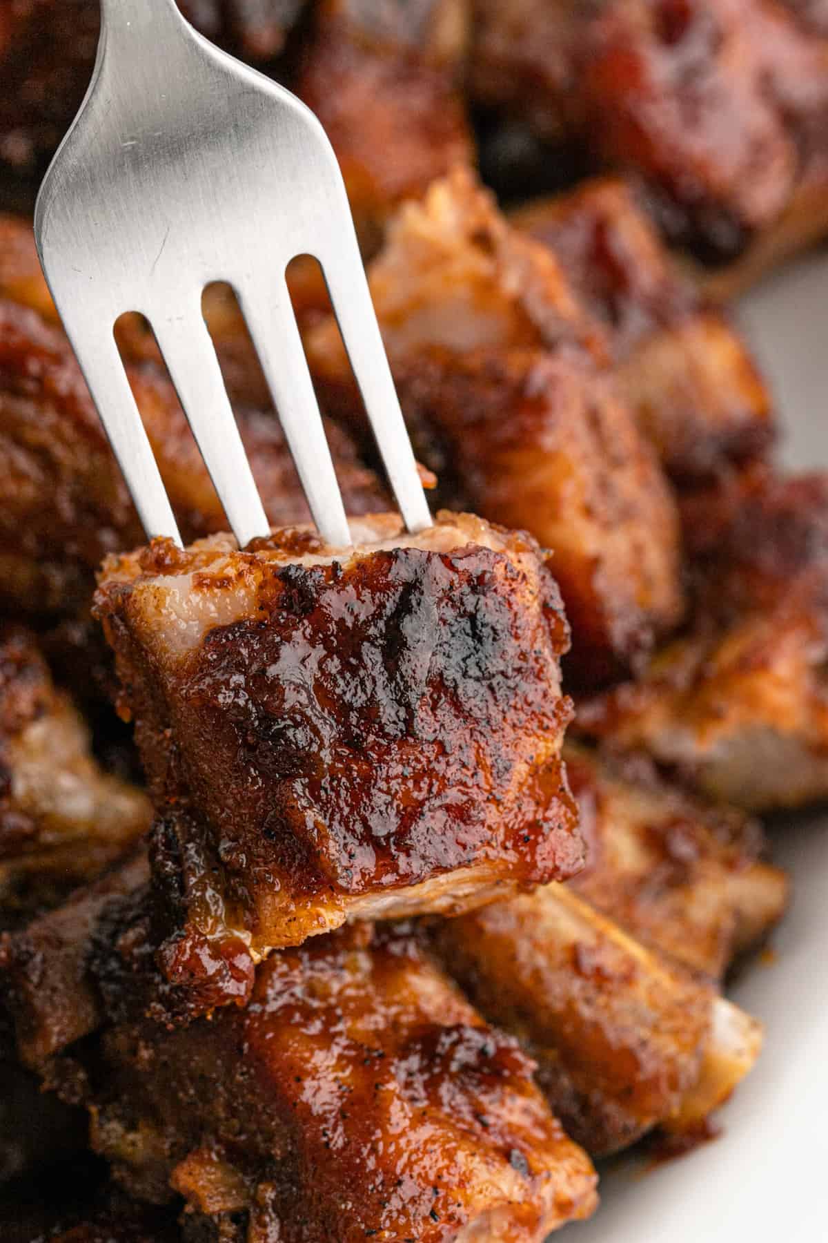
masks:
[[[319,260],[403,521],[431,526],[333,148],[295,96],[199,35],[174,0],[102,0],[94,73],[35,237],[148,537],[181,542],[115,343],[125,311],[154,329],[240,547],[269,531],[201,311],[205,286],[226,281],[314,522],[350,546],[286,281],[295,255]]]

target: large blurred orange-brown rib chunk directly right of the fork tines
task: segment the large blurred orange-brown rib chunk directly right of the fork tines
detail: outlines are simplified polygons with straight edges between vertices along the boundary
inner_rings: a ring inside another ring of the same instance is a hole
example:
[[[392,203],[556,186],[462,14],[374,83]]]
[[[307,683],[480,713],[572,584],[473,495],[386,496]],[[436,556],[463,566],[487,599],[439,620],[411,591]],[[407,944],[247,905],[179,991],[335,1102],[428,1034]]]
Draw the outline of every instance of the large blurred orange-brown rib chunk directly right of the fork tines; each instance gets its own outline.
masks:
[[[555,256],[461,172],[401,209],[369,275],[417,452],[447,500],[552,551],[574,681],[636,664],[680,619],[678,520],[650,446],[596,369],[603,326]],[[315,327],[308,349],[329,406],[353,418],[334,326]]]

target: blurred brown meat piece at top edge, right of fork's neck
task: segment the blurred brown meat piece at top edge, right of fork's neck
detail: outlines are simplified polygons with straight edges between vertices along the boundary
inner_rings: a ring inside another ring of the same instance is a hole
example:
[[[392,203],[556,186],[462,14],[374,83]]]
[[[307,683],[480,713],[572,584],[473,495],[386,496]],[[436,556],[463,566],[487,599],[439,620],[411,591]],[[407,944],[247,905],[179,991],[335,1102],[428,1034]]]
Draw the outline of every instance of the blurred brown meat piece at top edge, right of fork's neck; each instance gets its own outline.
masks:
[[[364,250],[403,199],[472,162],[467,0],[319,0],[294,89],[330,138]]]

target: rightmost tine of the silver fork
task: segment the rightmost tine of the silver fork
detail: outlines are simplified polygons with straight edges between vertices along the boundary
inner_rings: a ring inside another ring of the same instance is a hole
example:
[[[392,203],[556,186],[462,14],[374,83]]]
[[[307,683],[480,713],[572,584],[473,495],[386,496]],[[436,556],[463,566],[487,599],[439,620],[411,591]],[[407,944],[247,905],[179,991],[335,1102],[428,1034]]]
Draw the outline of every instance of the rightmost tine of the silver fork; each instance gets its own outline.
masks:
[[[320,256],[320,260],[351,370],[400,513],[408,531],[425,531],[432,525],[432,517],[394,387],[356,240],[351,242],[349,237],[340,237],[336,250],[324,259]]]

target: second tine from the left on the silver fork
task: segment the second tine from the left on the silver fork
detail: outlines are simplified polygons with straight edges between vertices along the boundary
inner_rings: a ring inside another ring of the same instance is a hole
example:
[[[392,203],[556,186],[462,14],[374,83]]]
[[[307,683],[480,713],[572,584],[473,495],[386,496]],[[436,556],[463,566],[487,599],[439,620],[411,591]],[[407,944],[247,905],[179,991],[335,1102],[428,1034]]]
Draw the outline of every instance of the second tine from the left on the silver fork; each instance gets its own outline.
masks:
[[[269,534],[271,526],[207,326],[200,308],[150,323],[230,527],[243,548],[257,536]]]

